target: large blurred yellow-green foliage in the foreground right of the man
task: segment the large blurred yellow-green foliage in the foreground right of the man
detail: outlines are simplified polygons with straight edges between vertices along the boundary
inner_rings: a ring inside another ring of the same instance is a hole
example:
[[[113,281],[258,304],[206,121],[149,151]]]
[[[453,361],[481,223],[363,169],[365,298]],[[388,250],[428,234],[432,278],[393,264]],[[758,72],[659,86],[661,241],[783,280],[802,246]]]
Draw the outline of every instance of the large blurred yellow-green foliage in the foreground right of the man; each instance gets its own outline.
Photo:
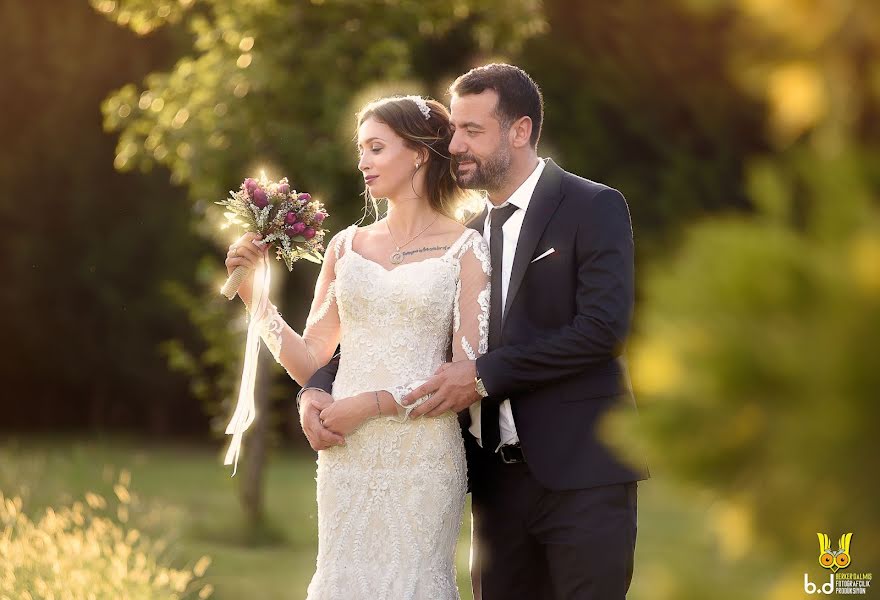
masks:
[[[641,421],[608,432],[644,439],[657,470],[735,516],[719,527],[728,564],[765,572],[713,597],[802,597],[817,532],[854,532],[854,571],[880,560],[866,541],[880,528],[867,475],[880,454],[880,102],[863,70],[880,50],[877,7],[708,4],[736,14],[729,68],[767,102],[774,152],[749,161],[756,216],[694,225],[652,269],[632,352]],[[694,561],[673,569],[657,597],[705,597]]]

